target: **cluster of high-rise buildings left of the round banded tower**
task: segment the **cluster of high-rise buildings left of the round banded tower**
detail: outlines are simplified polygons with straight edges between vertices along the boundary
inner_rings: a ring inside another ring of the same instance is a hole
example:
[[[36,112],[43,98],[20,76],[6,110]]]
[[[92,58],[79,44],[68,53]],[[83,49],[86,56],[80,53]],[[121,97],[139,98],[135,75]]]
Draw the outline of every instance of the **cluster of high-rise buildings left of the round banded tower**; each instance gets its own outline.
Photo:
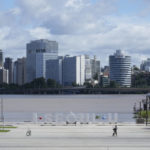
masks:
[[[5,58],[1,50],[1,83],[24,85],[35,79],[54,80],[63,86],[84,85],[100,81],[100,61],[88,55],[59,56],[59,43],[47,39],[35,40],[26,44],[26,57]],[[7,75],[8,78],[5,78]]]

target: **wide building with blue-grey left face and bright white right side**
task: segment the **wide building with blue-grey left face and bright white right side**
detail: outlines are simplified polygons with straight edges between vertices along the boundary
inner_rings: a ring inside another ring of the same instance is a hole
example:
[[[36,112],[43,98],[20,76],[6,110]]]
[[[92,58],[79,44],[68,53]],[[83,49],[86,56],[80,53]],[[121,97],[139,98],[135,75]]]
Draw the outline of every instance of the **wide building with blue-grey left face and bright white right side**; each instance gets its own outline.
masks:
[[[85,56],[66,56],[63,60],[63,85],[72,83],[83,85],[85,82]]]

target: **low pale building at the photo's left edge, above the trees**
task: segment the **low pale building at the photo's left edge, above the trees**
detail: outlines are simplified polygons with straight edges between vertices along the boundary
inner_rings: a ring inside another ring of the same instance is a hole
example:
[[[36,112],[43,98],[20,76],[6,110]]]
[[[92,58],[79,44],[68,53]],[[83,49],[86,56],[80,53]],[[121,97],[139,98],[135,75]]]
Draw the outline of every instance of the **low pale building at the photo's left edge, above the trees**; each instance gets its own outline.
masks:
[[[0,68],[0,84],[2,83],[7,83],[9,82],[9,75],[8,75],[9,71],[4,69],[4,68]]]

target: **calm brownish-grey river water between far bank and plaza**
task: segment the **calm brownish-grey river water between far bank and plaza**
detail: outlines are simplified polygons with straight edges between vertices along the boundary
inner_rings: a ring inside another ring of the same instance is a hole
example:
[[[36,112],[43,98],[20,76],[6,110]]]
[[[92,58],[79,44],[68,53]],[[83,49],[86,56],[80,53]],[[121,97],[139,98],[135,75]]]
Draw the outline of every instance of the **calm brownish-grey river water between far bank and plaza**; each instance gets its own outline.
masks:
[[[7,122],[32,121],[33,114],[97,114],[99,122],[118,114],[118,122],[134,122],[133,106],[146,95],[2,95]],[[40,120],[40,121],[41,121]]]

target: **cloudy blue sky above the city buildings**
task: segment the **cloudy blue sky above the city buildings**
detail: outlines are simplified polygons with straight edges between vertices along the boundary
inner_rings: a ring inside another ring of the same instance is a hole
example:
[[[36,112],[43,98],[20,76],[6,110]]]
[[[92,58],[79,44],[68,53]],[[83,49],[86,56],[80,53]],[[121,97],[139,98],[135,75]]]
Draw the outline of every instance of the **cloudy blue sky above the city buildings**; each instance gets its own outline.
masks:
[[[96,55],[102,66],[122,49],[133,64],[150,57],[150,0],[0,0],[0,49],[26,55],[26,43],[59,42],[60,55]]]

